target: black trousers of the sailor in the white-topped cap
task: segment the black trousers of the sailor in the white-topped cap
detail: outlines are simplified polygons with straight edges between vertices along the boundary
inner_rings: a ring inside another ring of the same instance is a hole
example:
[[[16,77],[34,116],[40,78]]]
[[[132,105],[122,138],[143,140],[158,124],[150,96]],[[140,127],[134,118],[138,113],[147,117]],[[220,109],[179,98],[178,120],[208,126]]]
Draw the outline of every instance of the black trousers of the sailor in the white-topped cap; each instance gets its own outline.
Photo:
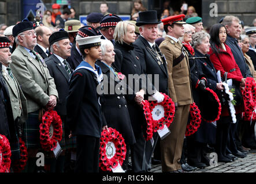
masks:
[[[76,150],[75,173],[99,173],[99,138],[77,135]]]

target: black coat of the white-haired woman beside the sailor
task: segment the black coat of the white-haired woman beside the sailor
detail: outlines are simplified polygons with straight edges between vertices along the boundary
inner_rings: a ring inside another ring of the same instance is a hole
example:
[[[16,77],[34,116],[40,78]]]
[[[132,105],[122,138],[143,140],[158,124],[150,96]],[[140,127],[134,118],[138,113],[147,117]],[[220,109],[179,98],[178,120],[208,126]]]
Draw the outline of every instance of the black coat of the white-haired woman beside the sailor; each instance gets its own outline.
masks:
[[[103,94],[101,97],[102,113],[105,116],[107,127],[112,127],[120,132],[124,137],[125,143],[134,144],[135,137],[132,131],[125,96],[124,94],[109,93],[110,87],[115,89],[118,84],[120,85],[120,83],[122,83],[122,81],[119,79],[115,80],[113,72],[110,71],[109,67],[107,67],[101,61],[97,61],[96,64],[101,67],[102,74],[107,76],[107,80],[104,79],[103,81],[103,88],[108,87],[109,90],[107,91],[107,94]],[[114,81],[113,85],[110,80]],[[126,86],[125,84],[123,85]]]

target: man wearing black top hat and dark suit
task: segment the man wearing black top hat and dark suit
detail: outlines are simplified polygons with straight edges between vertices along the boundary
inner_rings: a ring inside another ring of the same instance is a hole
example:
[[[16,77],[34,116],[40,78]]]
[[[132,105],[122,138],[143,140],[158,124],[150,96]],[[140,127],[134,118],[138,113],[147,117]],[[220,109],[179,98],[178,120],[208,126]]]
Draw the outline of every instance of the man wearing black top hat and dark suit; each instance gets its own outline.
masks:
[[[166,61],[164,55],[162,55],[158,45],[155,44],[158,34],[158,24],[161,21],[157,19],[157,11],[142,11],[139,13],[139,19],[136,22],[136,26],[139,26],[140,36],[134,43],[134,48],[137,56],[140,59],[140,64],[143,68],[144,74],[153,75],[153,85],[159,86],[157,89],[161,93],[168,94],[168,74],[166,70]],[[158,81],[154,81],[154,75],[159,76]],[[154,152],[155,163],[160,164],[161,152],[158,140],[158,133],[154,133],[154,147],[152,147],[150,141],[146,143],[146,163],[148,169],[151,168],[151,155],[153,154],[155,146],[157,146]]]

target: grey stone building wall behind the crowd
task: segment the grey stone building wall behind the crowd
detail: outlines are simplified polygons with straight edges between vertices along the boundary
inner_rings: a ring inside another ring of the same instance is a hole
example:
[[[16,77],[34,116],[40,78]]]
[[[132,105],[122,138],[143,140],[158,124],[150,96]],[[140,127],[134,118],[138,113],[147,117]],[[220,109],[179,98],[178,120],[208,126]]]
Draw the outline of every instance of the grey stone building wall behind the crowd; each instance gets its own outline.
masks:
[[[13,25],[20,21],[24,17],[23,2],[24,0],[0,0],[0,24]],[[56,1],[42,0],[42,2],[44,2],[47,9],[51,10],[51,4]],[[99,11],[99,5],[102,1],[72,0],[70,2],[71,7],[75,7],[77,14],[83,15],[92,11]],[[143,5],[147,9],[158,10],[159,14],[162,10],[157,4],[159,5],[161,2],[164,2],[164,0],[143,0]],[[180,0],[180,4],[182,2],[183,0]],[[187,2],[192,1],[187,0]],[[130,14],[133,6],[132,0],[109,0],[107,3],[109,3],[109,12],[115,14]],[[212,3],[217,5],[217,17],[213,17],[210,14],[213,9],[213,7],[210,7]],[[190,6],[190,3],[188,5]],[[201,9],[202,14],[199,14],[199,16],[202,16],[204,26],[215,24],[227,14],[238,16],[244,21],[245,25],[251,25],[253,19],[256,18],[256,0],[201,0],[201,6],[195,6],[195,9]]]

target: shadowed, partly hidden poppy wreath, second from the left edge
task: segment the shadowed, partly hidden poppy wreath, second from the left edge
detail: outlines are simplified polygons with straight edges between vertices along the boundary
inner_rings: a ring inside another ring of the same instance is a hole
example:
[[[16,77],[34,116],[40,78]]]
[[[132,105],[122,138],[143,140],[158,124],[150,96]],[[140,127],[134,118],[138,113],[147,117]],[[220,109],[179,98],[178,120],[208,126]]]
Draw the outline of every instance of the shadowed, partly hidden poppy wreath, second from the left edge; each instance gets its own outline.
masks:
[[[20,171],[24,170],[28,160],[27,147],[25,146],[25,143],[21,138],[19,138],[19,142],[20,142],[20,159],[14,160],[13,162],[14,173],[20,173]]]

